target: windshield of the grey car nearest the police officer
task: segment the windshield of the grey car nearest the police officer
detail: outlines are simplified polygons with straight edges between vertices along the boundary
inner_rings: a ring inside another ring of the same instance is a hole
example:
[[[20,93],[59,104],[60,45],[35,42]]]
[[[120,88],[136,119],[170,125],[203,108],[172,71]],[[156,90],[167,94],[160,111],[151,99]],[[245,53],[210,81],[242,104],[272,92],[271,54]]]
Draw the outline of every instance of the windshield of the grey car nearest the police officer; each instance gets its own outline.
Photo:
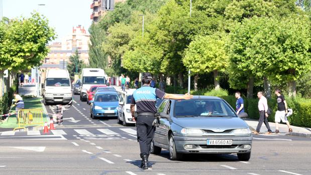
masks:
[[[236,117],[234,111],[223,100],[208,100],[208,99],[177,100],[175,103],[174,116]]]

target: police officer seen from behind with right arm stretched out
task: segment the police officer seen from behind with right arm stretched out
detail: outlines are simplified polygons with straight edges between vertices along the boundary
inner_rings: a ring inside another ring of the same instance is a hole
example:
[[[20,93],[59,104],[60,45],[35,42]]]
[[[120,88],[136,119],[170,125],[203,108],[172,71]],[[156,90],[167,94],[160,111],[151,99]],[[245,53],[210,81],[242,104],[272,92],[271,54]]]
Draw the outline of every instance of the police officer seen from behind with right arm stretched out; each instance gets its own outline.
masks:
[[[142,158],[141,168],[148,169],[152,167],[149,164],[148,156],[150,151],[151,141],[154,136],[155,126],[153,126],[153,121],[155,119],[155,114],[157,109],[155,107],[157,98],[160,99],[191,99],[193,96],[190,94],[185,94],[183,96],[167,94],[157,88],[150,87],[152,80],[152,75],[150,73],[143,73],[142,84],[143,86],[133,92],[131,99],[131,112],[133,121],[135,121],[134,107],[137,108],[137,140],[140,146],[140,157]]]

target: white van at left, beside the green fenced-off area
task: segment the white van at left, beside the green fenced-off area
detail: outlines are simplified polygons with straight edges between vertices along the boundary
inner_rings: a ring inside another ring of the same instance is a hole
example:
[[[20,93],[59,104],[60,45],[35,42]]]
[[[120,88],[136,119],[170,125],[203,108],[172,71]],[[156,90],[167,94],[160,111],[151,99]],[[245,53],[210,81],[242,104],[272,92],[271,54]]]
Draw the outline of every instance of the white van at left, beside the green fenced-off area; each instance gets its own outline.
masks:
[[[48,70],[43,85],[43,103],[72,102],[71,83],[67,70]]]

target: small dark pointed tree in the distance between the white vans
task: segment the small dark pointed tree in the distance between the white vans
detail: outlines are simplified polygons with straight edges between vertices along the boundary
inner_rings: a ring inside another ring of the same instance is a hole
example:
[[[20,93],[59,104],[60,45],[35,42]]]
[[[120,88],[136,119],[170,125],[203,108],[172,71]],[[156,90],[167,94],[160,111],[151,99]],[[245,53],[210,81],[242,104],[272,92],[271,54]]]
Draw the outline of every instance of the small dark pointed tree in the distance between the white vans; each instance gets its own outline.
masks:
[[[67,65],[67,70],[70,74],[70,79],[74,79],[75,74],[80,74],[82,69],[85,67],[85,64],[80,60],[78,50],[74,52],[74,55],[69,57],[69,63]],[[97,67],[96,67],[97,68]]]

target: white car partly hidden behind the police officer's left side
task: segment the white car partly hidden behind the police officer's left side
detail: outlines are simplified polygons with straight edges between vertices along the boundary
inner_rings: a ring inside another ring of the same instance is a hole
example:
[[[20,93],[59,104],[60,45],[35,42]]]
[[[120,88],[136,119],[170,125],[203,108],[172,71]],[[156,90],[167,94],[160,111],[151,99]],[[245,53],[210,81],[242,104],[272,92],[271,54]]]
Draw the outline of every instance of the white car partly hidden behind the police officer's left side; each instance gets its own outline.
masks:
[[[128,90],[125,92],[121,92],[119,99],[119,107],[118,107],[118,123],[127,126],[129,123],[136,123],[132,119],[131,113],[131,98],[133,96],[133,91]]]

